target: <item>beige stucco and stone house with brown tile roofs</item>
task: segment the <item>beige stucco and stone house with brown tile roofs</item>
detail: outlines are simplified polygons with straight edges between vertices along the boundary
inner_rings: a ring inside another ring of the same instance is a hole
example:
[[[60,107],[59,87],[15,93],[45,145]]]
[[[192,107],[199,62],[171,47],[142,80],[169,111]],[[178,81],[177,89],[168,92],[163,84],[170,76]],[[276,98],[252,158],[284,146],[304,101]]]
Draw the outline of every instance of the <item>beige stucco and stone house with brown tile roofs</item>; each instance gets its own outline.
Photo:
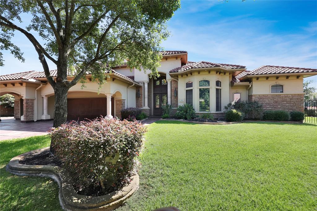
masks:
[[[162,103],[176,107],[192,104],[199,113],[223,116],[223,106],[233,100],[256,100],[265,110],[303,111],[303,78],[317,69],[261,66],[247,71],[245,66],[187,60],[186,51],[163,51],[160,77],[150,72],[128,69],[126,65],[105,72],[110,77],[98,94],[98,84],[86,75],[87,88],[81,84],[68,92],[68,119],[120,116],[125,107],[141,108],[160,116]],[[56,70],[51,71],[56,76]],[[69,80],[74,76],[69,75]],[[22,122],[53,118],[54,91],[44,72],[29,71],[0,76],[0,94],[15,97],[14,117]]]

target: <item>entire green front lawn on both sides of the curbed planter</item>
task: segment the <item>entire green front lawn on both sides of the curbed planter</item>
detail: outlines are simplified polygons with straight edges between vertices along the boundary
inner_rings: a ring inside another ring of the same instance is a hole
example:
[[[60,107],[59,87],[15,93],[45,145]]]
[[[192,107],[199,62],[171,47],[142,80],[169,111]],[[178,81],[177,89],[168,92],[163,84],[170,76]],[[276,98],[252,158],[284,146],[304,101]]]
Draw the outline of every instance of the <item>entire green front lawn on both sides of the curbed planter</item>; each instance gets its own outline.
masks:
[[[139,157],[140,188],[119,210],[314,210],[316,131],[308,124],[153,123]],[[59,210],[55,182],[4,170],[11,157],[48,146],[49,139],[0,144],[0,209]]]

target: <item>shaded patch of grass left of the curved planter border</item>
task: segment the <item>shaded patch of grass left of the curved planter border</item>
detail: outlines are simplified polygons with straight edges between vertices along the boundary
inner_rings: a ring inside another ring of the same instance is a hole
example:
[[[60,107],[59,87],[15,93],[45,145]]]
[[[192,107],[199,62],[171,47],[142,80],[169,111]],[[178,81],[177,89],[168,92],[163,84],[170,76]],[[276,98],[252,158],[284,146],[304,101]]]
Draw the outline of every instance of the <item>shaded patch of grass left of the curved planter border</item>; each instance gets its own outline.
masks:
[[[49,146],[48,136],[0,141],[0,210],[62,210],[58,185],[49,178],[15,176],[5,170],[12,157]]]

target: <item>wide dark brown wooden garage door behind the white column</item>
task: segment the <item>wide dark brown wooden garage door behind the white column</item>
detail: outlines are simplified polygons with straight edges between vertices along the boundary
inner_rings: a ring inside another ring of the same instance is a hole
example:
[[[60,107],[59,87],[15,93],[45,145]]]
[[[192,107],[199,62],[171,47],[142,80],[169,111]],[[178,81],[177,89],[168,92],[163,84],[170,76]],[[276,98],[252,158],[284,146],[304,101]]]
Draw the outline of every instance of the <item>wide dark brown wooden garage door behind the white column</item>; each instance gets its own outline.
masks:
[[[113,115],[113,98],[111,98]],[[107,116],[107,98],[69,98],[67,99],[67,119],[84,120]]]

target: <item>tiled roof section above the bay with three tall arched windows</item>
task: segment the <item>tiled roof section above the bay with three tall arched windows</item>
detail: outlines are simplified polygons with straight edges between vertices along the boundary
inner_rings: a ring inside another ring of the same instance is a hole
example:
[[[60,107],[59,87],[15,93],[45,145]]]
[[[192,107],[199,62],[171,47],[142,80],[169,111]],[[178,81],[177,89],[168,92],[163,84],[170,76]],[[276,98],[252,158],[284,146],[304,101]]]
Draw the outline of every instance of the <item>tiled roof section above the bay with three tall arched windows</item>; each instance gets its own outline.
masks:
[[[213,63],[213,62],[209,62],[209,61],[198,61],[198,62],[188,61],[187,64],[170,70],[170,73],[177,73],[177,72],[183,72],[183,71],[189,70],[189,69],[206,68],[206,67],[222,67],[225,69],[245,68],[245,66],[242,66],[242,65]]]

